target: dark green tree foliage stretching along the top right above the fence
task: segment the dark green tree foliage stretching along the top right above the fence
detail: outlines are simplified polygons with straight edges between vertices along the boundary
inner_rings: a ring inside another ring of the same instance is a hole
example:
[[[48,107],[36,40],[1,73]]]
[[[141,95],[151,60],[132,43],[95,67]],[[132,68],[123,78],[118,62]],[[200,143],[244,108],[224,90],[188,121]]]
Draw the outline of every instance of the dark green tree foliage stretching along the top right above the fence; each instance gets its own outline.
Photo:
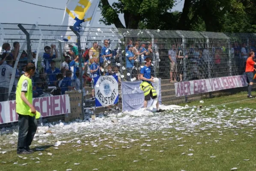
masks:
[[[171,12],[177,0],[101,0],[104,24],[131,29],[179,29],[210,32],[255,32],[256,0],[185,0],[182,12]],[[125,26],[119,20],[124,14]]]

